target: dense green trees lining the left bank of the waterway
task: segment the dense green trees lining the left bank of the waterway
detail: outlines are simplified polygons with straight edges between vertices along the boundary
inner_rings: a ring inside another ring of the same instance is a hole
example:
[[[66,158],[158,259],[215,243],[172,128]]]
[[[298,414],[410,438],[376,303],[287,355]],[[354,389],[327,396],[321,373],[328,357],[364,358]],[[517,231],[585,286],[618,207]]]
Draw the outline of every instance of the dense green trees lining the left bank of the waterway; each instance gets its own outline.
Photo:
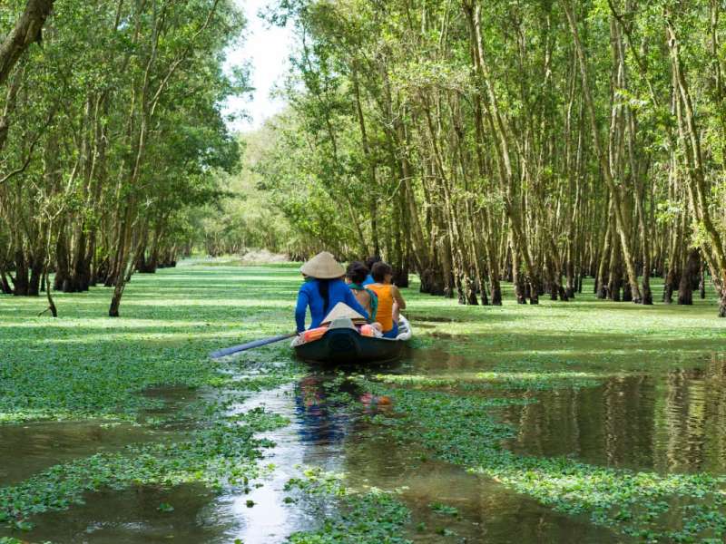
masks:
[[[5,3],[0,29],[24,8]],[[0,93],[3,292],[54,272],[57,290],[114,287],[117,316],[134,270],[189,250],[190,210],[237,161],[220,104],[245,90],[222,71],[243,24],[230,0],[55,3]]]

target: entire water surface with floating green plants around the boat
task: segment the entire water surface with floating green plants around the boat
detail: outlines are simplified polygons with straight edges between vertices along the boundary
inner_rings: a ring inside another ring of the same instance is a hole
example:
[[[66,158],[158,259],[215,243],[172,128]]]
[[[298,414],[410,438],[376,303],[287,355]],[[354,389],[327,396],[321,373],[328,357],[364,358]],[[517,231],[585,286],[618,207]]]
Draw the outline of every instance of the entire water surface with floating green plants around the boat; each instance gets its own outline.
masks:
[[[708,301],[472,308],[411,289],[420,326],[395,364],[329,369],[285,346],[207,361],[285,330],[296,286],[290,267],[183,267],[134,278],[126,321],[94,316],[99,289],[59,296],[50,325],[13,300],[0,538],[723,539],[726,327]],[[66,384],[29,382],[33,363]]]

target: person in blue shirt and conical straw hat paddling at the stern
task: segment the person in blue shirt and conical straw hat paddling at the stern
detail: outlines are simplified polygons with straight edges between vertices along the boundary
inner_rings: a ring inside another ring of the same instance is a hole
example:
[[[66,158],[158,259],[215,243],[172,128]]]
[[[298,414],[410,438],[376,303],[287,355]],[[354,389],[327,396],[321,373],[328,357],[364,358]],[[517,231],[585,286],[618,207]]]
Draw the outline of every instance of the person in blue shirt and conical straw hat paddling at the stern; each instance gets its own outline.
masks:
[[[310,309],[310,328],[320,326],[329,310],[338,304],[345,303],[368,319],[366,308],[360,306],[353,292],[343,281],[345,270],[338,264],[335,257],[323,251],[312,257],[300,267],[305,283],[298,291],[298,303],[295,306],[295,323],[298,333],[305,331],[305,316]]]

